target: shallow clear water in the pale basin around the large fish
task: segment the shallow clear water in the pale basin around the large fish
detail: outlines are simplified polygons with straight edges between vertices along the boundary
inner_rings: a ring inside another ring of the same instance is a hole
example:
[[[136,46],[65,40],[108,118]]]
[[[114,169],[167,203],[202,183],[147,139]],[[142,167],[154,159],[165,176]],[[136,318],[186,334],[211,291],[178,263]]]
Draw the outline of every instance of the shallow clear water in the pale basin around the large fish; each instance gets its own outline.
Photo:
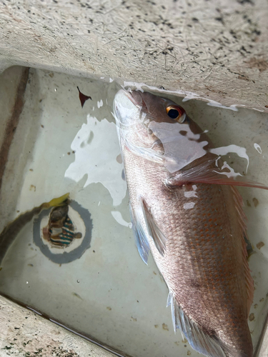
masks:
[[[76,86],[92,97],[83,108]],[[1,262],[0,291],[130,356],[197,357],[179,331],[174,335],[165,307],[167,287],[152,256],[146,266],[134,244],[111,115],[118,89],[114,82],[31,69],[10,154],[26,158],[24,169],[12,178],[18,192],[10,213],[5,181],[0,215],[10,221],[69,192],[69,216],[82,238],[66,249],[51,248],[41,238],[49,220],[49,211],[43,211],[24,226]],[[197,99],[175,101],[208,131],[216,147],[236,145],[240,156],[224,156],[234,171],[268,184],[268,114],[208,106]],[[241,157],[243,148],[248,159]],[[249,328],[256,346],[268,309],[268,192],[239,191],[255,251],[249,259],[256,289]]]

